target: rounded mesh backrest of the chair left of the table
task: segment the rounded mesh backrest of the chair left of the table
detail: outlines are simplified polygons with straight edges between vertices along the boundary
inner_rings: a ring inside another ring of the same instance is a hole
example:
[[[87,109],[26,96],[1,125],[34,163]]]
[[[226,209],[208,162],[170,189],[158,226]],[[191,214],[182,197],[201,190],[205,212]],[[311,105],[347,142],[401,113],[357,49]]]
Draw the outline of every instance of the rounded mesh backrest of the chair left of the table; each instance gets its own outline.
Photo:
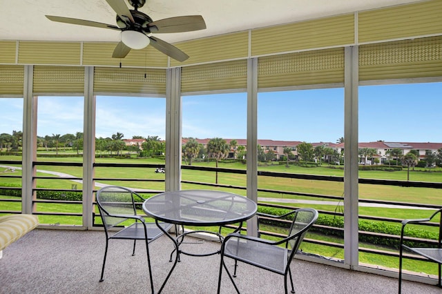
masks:
[[[137,215],[137,203],[144,201],[133,190],[119,186],[99,189],[96,200],[106,229],[125,222],[125,216]]]

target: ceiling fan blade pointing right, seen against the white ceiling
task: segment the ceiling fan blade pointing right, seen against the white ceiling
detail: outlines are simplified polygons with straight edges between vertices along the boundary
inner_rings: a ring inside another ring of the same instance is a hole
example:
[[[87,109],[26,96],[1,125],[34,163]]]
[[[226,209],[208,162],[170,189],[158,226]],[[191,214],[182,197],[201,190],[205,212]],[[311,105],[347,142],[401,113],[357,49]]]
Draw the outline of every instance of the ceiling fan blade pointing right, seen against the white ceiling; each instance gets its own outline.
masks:
[[[190,32],[192,30],[204,30],[206,23],[201,15],[188,15],[186,17],[170,17],[160,19],[148,24],[151,32]]]

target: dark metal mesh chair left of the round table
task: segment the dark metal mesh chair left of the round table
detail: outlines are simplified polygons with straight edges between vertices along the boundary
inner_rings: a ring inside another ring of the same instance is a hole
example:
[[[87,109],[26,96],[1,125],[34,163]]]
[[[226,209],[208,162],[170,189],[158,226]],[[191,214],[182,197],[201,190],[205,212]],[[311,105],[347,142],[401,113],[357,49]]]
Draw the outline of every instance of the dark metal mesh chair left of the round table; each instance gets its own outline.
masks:
[[[128,188],[106,186],[98,190],[97,204],[102,217],[104,232],[106,233],[106,249],[104,251],[102,275],[99,282],[104,280],[104,266],[106,264],[109,239],[133,239],[132,255],[135,255],[137,240],[144,240],[147,251],[149,278],[151,279],[151,290],[154,293],[148,244],[164,233],[155,222],[146,222],[144,217],[137,215],[137,211],[142,211],[142,202],[144,202],[144,198]],[[172,226],[166,223],[160,223],[159,225],[164,228],[164,231],[168,231]],[[111,231],[110,229],[113,227],[122,227],[122,229]]]

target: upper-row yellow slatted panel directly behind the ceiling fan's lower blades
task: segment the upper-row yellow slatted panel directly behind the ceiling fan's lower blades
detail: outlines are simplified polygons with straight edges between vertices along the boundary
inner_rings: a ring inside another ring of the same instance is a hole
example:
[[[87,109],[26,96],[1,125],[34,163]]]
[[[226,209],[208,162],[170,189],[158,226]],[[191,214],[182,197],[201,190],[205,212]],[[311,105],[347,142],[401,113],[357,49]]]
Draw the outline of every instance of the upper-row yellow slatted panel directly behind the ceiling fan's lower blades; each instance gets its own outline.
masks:
[[[90,42],[83,44],[84,66],[119,66],[166,68],[167,56],[152,46],[141,50],[131,50],[124,58],[113,58],[113,50],[117,43]]]

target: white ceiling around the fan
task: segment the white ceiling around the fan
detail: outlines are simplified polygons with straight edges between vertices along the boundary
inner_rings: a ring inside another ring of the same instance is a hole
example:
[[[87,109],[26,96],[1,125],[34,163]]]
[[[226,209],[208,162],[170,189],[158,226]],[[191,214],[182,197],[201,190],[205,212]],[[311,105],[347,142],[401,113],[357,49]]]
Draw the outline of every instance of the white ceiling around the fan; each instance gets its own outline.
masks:
[[[126,0],[122,1],[132,8]],[[192,14],[204,17],[206,30],[155,35],[175,43],[412,2],[417,1],[146,0],[140,11],[153,21]],[[46,19],[45,14],[115,25],[115,12],[105,0],[0,0],[0,40],[119,41],[119,32],[115,30],[55,23]]]

